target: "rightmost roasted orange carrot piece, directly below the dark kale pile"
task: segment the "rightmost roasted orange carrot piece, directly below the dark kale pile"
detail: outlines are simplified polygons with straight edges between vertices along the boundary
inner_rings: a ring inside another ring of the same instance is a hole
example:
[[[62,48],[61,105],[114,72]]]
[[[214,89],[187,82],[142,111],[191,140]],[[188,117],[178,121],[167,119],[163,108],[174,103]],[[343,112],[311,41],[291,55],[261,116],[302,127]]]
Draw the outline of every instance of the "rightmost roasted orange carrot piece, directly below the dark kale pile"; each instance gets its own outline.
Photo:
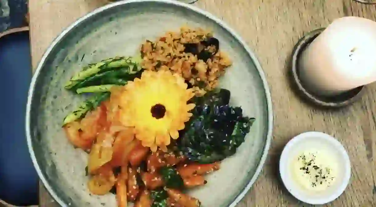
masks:
[[[185,164],[177,168],[180,176],[183,178],[192,177],[194,175],[204,175],[220,169],[220,163],[212,164]]]

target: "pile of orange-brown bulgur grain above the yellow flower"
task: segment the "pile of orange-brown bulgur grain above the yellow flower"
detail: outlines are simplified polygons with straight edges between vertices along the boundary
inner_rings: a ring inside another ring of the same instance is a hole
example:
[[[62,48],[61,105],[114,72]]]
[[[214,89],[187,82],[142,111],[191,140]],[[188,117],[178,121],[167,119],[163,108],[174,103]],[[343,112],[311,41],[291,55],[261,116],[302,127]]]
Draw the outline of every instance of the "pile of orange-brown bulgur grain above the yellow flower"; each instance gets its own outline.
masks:
[[[182,27],[141,46],[141,65],[146,70],[172,70],[185,78],[197,96],[213,90],[218,78],[232,64],[219,50],[219,41],[201,28]]]

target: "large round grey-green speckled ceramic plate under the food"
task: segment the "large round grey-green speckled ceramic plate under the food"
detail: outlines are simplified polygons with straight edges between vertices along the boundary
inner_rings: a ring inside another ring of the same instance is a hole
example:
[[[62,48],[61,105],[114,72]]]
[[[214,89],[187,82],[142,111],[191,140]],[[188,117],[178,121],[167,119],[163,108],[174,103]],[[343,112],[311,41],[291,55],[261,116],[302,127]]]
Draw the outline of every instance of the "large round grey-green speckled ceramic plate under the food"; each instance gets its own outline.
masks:
[[[183,25],[212,29],[220,49],[233,60],[221,78],[230,103],[256,117],[246,142],[205,187],[191,191],[203,207],[235,206],[259,175],[271,142],[273,116],[264,72],[253,52],[226,24],[194,6],[170,0],[129,0],[106,5],[80,18],[43,55],[32,79],[26,132],[30,154],[45,187],[62,206],[116,206],[115,196],[91,195],[86,187],[87,154],[68,143],[62,120],[85,98],[63,89],[89,63],[135,55],[140,44]],[[255,37],[256,38],[256,37]]]

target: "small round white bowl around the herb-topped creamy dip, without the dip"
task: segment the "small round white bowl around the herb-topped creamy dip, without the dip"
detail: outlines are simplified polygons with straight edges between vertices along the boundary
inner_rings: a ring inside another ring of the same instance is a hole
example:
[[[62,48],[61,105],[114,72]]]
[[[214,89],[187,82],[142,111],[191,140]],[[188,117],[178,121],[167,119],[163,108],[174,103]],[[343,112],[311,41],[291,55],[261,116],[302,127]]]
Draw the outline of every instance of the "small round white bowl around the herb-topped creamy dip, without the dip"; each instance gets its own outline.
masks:
[[[292,159],[304,150],[326,148],[336,156],[338,174],[334,183],[322,192],[309,193],[293,180],[290,164]],[[300,201],[308,204],[326,204],[338,198],[349,184],[351,166],[345,148],[334,137],[322,132],[305,132],[287,143],[279,161],[279,173],[287,190]]]

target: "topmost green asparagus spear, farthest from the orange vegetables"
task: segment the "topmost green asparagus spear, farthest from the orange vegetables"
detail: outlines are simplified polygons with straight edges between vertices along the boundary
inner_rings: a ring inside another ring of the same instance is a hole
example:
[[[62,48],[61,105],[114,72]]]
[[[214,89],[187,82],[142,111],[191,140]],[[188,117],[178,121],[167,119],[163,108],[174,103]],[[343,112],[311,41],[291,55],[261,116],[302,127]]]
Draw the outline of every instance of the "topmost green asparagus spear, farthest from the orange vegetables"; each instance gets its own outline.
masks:
[[[89,78],[98,73],[114,70],[115,68],[129,67],[129,74],[137,73],[139,70],[141,70],[141,67],[138,66],[138,62],[136,61],[139,61],[139,59],[116,57],[103,60],[96,64],[90,64],[87,67],[84,67],[83,70],[77,75],[73,76],[65,85],[65,88],[73,88],[80,82],[84,81],[86,78]]]

